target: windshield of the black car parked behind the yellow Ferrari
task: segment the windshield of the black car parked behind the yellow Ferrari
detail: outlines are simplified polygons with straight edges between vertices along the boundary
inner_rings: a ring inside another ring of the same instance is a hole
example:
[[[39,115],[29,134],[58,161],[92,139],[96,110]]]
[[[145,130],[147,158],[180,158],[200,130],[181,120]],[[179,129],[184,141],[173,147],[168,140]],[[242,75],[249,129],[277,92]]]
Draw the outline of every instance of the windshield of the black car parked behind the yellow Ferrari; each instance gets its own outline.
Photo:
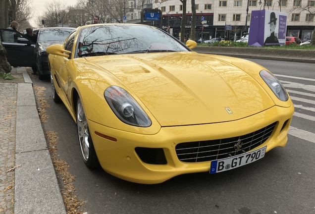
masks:
[[[72,29],[41,30],[38,41],[64,41],[72,31]]]

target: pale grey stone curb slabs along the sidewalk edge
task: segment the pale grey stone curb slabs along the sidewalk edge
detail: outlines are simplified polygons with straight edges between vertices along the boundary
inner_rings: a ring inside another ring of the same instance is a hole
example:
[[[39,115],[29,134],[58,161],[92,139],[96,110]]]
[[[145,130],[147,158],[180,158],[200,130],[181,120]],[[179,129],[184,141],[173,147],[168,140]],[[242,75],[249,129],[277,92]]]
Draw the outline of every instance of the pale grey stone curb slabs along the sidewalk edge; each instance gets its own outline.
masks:
[[[66,214],[60,188],[38,115],[33,82],[25,67],[17,69],[25,83],[18,83],[14,213]]]

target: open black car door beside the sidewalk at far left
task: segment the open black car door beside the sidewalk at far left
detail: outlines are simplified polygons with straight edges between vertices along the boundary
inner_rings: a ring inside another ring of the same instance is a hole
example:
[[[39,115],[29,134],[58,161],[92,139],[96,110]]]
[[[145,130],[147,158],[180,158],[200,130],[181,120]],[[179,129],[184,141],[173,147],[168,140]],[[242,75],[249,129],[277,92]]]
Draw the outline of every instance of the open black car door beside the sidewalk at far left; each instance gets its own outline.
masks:
[[[2,45],[7,61],[11,66],[31,67],[36,65],[35,44],[23,37],[23,34],[11,29],[0,29]]]

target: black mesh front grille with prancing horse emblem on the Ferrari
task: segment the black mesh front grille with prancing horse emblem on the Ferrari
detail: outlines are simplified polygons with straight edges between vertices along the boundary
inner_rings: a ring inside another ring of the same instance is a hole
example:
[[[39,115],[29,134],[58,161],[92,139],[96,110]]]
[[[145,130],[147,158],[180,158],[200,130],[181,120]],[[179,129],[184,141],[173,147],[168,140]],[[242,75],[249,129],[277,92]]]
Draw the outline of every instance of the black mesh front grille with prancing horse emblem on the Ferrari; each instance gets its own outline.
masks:
[[[238,137],[180,143],[175,148],[176,154],[183,162],[203,162],[243,154],[262,145],[272,134],[275,125],[276,122]],[[241,148],[236,151],[236,147],[240,145]]]

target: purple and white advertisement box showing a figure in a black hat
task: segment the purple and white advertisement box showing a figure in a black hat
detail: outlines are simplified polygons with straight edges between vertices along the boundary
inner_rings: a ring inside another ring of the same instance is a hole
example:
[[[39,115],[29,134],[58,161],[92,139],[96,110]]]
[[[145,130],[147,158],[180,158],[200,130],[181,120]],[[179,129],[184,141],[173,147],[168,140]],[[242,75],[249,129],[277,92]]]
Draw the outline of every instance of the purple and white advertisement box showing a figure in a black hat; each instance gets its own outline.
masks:
[[[274,10],[253,10],[248,45],[285,45],[287,13]]]

